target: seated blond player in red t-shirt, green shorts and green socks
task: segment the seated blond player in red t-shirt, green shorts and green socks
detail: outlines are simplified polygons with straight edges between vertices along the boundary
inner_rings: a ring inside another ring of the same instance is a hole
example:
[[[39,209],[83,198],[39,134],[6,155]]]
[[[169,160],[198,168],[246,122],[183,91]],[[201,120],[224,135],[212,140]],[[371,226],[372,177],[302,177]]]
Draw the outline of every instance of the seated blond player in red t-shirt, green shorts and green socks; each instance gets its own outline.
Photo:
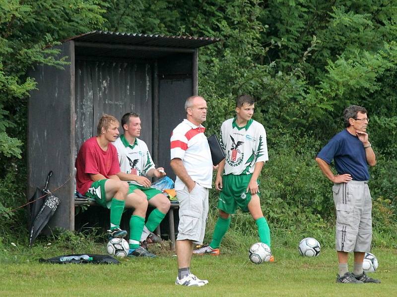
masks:
[[[130,191],[129,184],[121,181],[117,149],[112,145],[119,136],[119,121],[104,114],[97,127],[97,136],[88,139],[78,151],[75,167],[77,192],[110,208],[110,236],[123,238],[126,230],[120,228],[125,207],[134,208],[130,219],[130,252],[132,256],[155,255],[139,247],[145,221],[147,199]]]

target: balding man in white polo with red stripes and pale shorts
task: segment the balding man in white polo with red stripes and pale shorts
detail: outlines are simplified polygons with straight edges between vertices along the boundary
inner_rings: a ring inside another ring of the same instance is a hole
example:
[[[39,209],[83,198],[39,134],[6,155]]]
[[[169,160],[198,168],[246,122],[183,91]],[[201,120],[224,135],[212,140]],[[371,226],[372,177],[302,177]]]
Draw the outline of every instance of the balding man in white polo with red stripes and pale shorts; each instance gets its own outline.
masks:
[[[186,119],[172,132],[171,168],[177,175],[175,190],[179,199],[177,238],[178,277],[176,285],[204,286],[190,272],[194,244],[202,244],[208,214],[208,192],[212,182],[212,161],[205,128],[207,103],[199,96],[185,102]]]

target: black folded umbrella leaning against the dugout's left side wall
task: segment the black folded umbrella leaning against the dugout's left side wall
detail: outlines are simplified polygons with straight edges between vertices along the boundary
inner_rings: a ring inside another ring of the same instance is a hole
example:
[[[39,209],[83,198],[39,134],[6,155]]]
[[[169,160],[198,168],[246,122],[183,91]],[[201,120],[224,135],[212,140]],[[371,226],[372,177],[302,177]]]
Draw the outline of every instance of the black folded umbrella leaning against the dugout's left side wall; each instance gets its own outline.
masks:
[[[47,175],[44,189],[36,189],[36,193],[30,198],[30,224],[29,224],[29,246],[32,246],[36,237],[47,225],[50,218],[54,215],[61,200],[55,197],[48,190],[48,182],[53,172]]]

